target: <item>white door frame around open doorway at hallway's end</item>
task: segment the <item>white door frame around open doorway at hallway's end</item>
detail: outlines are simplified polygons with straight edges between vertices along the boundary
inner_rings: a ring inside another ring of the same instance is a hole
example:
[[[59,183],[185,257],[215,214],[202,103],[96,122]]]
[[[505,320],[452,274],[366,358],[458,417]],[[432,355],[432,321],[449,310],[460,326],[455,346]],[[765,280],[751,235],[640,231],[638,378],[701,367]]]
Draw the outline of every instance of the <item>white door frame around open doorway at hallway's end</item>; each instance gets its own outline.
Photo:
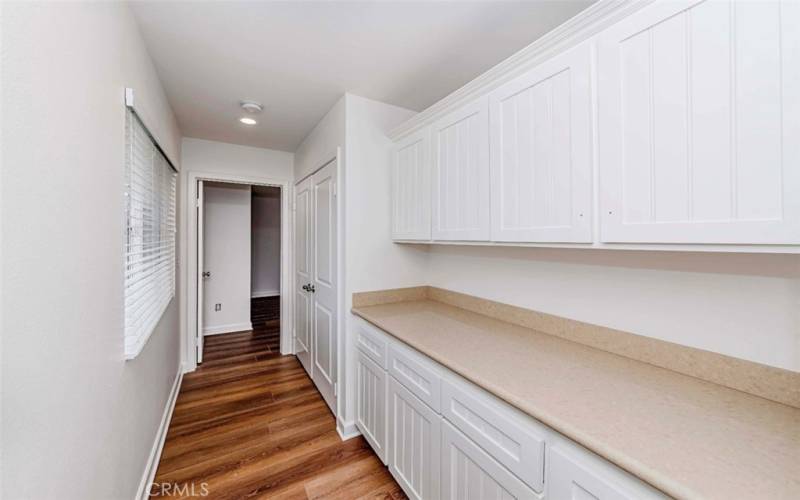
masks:
[[[187,262],[186,282],[184,284],[186,297],[186,335],[184,338],[184,353],[186,363],[184,372],[191,372],[197,368],[197,181],[227,182],[231,184],[249,184],[257,186],[272,186],[281,189],[281,354],[294,354],[292,338],[292,316],[294,313],[292,272],[292,233],[291,225],[291,200],[294,197],[294,186],[291,181],[269,177],[251,175],[230,175],[212,172],[189,172],[187,178]]]

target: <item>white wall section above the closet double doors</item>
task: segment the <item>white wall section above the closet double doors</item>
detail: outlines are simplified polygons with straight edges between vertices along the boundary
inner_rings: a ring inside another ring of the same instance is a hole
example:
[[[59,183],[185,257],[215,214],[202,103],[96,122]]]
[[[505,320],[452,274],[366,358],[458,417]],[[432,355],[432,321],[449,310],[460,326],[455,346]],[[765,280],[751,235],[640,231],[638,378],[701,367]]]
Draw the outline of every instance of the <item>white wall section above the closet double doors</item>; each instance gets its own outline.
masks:
[[[344,147],[344,122],[345,96],[342,96],[297,147],[294,154],[295,181],[314,173],[336,155],[337,147]]]

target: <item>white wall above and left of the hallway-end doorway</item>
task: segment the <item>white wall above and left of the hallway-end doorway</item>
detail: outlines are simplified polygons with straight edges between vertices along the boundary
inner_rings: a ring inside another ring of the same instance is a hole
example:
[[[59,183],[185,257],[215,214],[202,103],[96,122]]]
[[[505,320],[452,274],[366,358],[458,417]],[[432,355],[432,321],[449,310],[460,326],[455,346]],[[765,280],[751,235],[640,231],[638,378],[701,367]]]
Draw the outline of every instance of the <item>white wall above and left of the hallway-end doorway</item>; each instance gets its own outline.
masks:
[[[289,182],[294,179],[294,154],[285,151],[275,151],[272,149],[253,148],[248,146],[238,146],[223,142],[206,141],[202,139],[184,138],[181,148],[181,179],[180,192],[185,199],[192,199],[194,196],[194,186],[189,186],[188,179],[191,173],[202,173],[210,176],[246,176],[269,179],[276,182]],[[188,332],[192,335],[196,332],[196,318],[194,311],[190,308],[190,302],[196,300],[194,291],[189,293],[188,275],[190,267],[194,267],[195,253],[189,241],[189,224],[192,220],[189,213],[190,203],[182,203],[178,213],[182,224],[179,240],[182,242],[183,251],[180,258],[180,281],[181,290],[185,293],[181,297],[181,315],[186,321],[181,324],[181,338],[186,339]],[[192,208],[194,210],[194,208]],[[291,228],[287,228],[291,234]],[[292,318],[290,315],[282,319],[284,324],[291,328]],[[191,369],[194,359],[194,346],[190,342],[183,345],[183,359],[187,367]]]

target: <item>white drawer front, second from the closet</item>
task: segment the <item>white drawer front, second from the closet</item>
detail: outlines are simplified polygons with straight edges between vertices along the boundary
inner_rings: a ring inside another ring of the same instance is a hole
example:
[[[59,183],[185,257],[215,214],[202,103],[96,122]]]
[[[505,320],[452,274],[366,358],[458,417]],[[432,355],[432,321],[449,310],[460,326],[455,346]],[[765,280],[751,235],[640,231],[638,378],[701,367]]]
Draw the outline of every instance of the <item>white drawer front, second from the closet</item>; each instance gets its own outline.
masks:
[[[392,343],[389,346],[389,374],[439,412],[442,374],[433,361],[408,347]]]

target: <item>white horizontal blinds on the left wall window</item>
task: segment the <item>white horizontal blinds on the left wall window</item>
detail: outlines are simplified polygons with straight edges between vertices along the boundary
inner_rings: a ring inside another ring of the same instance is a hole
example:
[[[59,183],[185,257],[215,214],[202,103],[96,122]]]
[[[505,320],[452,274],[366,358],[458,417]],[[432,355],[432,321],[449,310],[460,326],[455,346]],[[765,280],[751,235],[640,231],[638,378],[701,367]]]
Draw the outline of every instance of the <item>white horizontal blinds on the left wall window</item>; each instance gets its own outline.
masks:
[[[125,357],[131,359],[175,295],[177,176],[130,108],[125,129]]]

